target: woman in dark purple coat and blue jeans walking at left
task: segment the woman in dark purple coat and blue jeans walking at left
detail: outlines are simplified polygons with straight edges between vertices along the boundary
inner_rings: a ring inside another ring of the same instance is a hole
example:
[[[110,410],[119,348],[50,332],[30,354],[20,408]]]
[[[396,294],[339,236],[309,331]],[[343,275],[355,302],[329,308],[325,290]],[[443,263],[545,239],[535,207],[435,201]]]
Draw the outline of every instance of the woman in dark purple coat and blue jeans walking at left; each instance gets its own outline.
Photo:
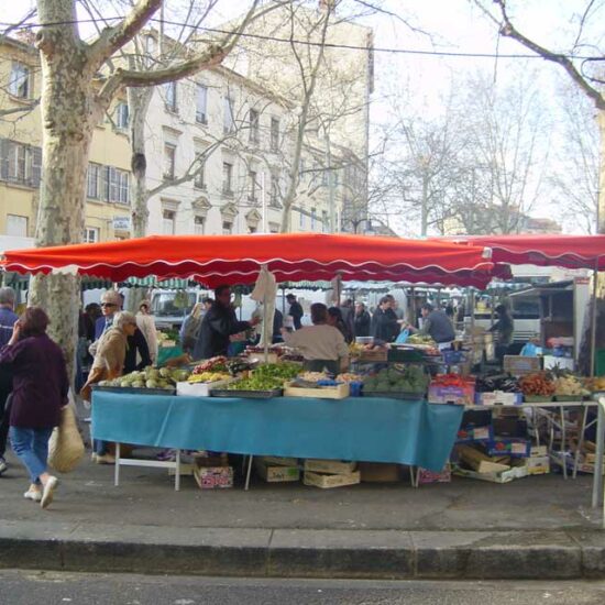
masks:
[[[10,416],[11,444],[28,472],[31,485],[24,497],[46,508],[58,480],[47,470],[48,440],[67,404],[69,383],[62,350],[46,334],[48,316],[29,307],[16,321],[0,364],[13,369]]]

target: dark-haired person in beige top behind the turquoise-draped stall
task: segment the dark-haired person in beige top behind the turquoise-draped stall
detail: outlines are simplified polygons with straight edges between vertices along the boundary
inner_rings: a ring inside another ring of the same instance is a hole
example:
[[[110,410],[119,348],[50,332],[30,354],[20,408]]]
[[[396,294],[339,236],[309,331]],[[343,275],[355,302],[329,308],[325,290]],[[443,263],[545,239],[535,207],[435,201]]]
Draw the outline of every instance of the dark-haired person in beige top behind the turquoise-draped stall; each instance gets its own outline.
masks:
[[[284,342],[296,346],[305,359],[305,370],[331,374],[345,371],[349,365],[349,348],[344,337],[333,326],[328,324],[328,308],[321,302],[311,305],[312,326],[296,332],[282,329]]]

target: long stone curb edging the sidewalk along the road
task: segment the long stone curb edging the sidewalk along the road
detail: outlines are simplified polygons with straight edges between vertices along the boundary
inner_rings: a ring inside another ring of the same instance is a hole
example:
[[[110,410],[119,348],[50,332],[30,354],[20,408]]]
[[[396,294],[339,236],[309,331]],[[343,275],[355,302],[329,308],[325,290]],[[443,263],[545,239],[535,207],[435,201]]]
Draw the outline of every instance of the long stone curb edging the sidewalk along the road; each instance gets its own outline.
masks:
[[[376,580],[605,579],[605,532],[4,522],[0,569]]]

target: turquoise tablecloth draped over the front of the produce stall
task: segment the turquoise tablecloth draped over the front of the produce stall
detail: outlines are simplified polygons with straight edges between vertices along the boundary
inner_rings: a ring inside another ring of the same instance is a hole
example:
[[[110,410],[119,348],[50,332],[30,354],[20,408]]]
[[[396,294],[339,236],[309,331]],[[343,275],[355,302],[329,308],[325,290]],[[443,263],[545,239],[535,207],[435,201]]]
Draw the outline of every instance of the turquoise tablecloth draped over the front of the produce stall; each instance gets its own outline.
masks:
[[[254,455],[399,462],[440,471],[461,406],[350,397],[92,396],[95,439]]]

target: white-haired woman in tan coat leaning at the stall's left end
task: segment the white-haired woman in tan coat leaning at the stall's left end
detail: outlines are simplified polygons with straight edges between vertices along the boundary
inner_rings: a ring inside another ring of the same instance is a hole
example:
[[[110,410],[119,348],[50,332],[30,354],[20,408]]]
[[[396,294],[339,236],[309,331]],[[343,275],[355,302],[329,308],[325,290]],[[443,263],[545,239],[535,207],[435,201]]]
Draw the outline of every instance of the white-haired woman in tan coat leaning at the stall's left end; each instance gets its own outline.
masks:
[[[90,386],[100,382],[117,378],[122,375],[127,356],[128,337],[136,331],[136,318],[129,311],[120,311],[113,316],[111,327],[103,332],[97,345],[95,361],[80,395],[90,400]],[[109,454],[107,441],[95,440],[92,460],[98,464],[113,464],[116,459]]]

